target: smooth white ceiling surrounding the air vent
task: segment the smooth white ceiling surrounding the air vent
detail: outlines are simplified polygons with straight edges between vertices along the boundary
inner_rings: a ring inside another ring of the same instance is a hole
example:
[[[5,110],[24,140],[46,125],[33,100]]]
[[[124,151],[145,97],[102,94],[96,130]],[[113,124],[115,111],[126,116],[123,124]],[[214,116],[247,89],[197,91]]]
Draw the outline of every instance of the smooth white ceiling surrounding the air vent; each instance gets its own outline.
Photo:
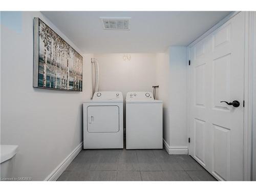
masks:
[[[157,53],[186,46],[229,11],[42,11],[83,53]],[[103,30],[100,17],[131,17],[131,30]]]

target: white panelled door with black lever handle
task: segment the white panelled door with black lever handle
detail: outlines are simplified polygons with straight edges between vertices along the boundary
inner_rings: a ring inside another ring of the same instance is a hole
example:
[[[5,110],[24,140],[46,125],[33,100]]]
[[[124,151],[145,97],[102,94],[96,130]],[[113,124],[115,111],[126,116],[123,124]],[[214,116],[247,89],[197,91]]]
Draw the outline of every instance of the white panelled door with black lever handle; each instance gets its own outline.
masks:
[[[243,180],[244,28],[240,12],[189,49],[189,155],[218,180]]]

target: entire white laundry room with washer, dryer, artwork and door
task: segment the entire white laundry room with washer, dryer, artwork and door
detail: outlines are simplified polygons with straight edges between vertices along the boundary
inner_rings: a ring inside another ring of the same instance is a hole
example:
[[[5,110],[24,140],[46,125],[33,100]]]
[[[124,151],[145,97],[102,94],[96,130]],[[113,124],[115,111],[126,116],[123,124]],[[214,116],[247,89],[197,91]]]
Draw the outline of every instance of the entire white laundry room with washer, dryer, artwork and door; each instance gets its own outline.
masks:
[[[255,11],[0,16],[1,182],[256,180]]]

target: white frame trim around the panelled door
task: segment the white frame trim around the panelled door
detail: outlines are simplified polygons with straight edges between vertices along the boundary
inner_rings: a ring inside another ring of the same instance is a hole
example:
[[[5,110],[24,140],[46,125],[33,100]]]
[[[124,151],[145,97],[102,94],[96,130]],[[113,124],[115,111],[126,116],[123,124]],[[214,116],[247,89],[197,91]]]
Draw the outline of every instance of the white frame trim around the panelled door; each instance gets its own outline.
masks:
[[[217,23],[214,27],[210,28],[208,31],[206,31],[203,35],[201,35],[199,38],[191,42],[187,46],[187,58],[188,61],[190,59],[189,55],[189,49],[197,44],[200,40],[202,40],[204,37],[209,35],[211,32],[218,29],[220,26],[225,24],[228,20],[230,20],[232,17],[236,16],[240,11],[234,11],[231,12],[229,15],[227,15],[225,18],[220,20],[219,23]],[[253,123],[253,110],[256,112],[256,109],[253,109],[253,99],[256,100],[253,97],[253,77],[256,78],[256,70],[254,70],[253,74],[253,66],[255,62],[255,55],[254,52],[255,44],[251,43],[253,42],[254,37],[254,23],[256,21],[256,12],[245,12],[245,58],[244,58],[244,100],[245,100],[245,106],[244,106],[244,146],[243,146],[243,166],[244,166],[244,174],[243,174],[243,180],[250,181],[252,180],[252,123]],[[255,65],[256,68],[256,65]],[[246,78],[245,78],[246,77]],[[191,108],[190,108],[190,67],[187,65],[187,134],[188,137],[190,137],[190,118],[191,118]],[[255,95],[256,96],[256,95]],[[255,102],[255,101],[254,101]],[[255,127],[256,129],[256,127]],[[254,133],[255,134],[255,133]],[[191,144],[188,143],[188,154],[191,154]],[[256,163],[255,165],[256,166]],[[256,173],[254,173],[256,175]],[[254,178],[256,179],[256,178]]]

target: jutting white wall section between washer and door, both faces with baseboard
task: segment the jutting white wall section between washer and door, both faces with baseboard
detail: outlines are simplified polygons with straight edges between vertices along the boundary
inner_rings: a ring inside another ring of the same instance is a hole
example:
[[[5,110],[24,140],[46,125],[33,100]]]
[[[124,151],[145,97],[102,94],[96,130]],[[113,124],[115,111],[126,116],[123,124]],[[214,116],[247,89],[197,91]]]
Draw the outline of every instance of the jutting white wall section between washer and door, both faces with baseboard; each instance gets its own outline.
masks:
[[[157,54],[158,97],[163,100],[164,140],[170,154],[187,153],[186,55],[186,47],[169,47]]]

